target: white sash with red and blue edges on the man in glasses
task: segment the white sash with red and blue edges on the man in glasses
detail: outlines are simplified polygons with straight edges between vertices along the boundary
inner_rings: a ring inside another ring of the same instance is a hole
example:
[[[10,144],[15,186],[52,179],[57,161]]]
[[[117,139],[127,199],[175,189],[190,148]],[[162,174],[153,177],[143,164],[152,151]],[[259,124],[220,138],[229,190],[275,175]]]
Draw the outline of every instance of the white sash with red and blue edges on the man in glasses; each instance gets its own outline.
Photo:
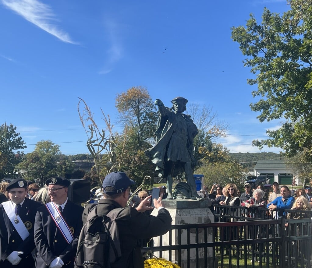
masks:
[[[56,227],[61,231],[66,242],[68,244],[70,244],[71,241],[74,240],[74,237],[73,237],[71,230],[69,229],[67,223],[63,219],[61,212],[58,210],[58,207],[56,206],[56,204],[54,202],[49,202],[46,204],[46,209],[50,213],[53,221],[56,224]]]

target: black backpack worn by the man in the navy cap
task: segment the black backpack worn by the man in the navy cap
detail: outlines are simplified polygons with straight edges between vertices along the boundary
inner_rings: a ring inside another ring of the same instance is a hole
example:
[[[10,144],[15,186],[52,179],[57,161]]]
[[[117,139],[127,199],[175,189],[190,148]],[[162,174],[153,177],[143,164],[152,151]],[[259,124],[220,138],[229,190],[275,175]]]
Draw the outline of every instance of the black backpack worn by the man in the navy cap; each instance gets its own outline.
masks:
[[[115,208],[106,216],[97,214],[96,206],[89,212],[82,227],[75,268],[108,268],[121,257],[119,232],[115,222],[124,208]]]

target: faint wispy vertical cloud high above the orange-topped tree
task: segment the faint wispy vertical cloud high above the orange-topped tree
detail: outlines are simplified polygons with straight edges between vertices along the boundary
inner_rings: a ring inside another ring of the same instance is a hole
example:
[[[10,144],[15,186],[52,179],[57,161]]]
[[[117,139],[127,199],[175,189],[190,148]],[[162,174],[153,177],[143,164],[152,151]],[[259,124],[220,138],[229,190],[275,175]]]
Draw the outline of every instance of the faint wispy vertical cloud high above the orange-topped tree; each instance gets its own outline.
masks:
[[[113,20],[106,20],[105,29],[108,33],[110,47],[107,50],[107,61],[105,62],[103,69],[99,72],[100,74],[110,73],[116,62],[118,62],[124,55],[120,26]]]

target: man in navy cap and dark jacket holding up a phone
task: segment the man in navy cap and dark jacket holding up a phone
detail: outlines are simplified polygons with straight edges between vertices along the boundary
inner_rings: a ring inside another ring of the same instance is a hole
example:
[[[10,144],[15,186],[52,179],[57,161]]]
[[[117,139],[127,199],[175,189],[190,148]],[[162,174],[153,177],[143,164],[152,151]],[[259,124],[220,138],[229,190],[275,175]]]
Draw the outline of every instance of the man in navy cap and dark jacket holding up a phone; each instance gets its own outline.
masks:
[[[134,183],[124,172],[108,174],[103,181],[104,198],[92,208],[100,215],[107,215],[115,208],[124,208],[116,218],[122,256],[119,261],[111,264],[112,268],[144,268],[142,253],[138,246],[139,240],[163,235],[171,228],[172,219],[164,208],[161,197],[152,200],[158,209],[157,217],[142,213],[153,209],[149,201],[151,196],[140,202],[137,208],[126,207],[129,186]]]

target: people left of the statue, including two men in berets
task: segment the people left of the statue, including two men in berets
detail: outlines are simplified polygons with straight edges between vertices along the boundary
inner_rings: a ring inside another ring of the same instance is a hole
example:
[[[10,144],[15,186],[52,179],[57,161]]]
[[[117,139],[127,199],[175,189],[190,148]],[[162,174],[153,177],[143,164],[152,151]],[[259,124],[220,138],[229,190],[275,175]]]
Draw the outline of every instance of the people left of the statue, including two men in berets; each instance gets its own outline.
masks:
[[[142,190],[128,206],[129,196],[134,197],[130,190],[134,181],[123,172],[108,174],[102,188],[94,189],[97,202],[85,208],[68,199],[68,179],[52,177],[45,184],[40,188],[22,178],[0,184],[0,267],[80,267],[75,264],[78,238],[95,207],[100,215],[120,209],[114,220],[122,256],[112,268],[143,268],[139,241],[148,241],[171,228],[172,218],[162,203],[166,189],[160,187],[161,195],[154,200]],[[154,208],[157,216],[150,215]]]

